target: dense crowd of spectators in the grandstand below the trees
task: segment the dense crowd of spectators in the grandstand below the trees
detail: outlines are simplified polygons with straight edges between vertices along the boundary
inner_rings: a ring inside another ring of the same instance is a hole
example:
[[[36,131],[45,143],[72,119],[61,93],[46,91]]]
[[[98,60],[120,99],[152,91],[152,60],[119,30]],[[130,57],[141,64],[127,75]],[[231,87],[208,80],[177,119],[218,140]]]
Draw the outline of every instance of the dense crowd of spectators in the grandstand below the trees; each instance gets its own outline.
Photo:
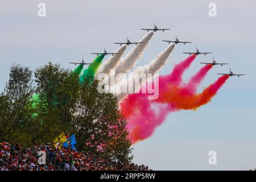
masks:
[[[0,171],[149,171],[148,166],[106,160],[76,149],[56,150],[50,143],[24,148],[19,143],[0,143]],[[39,164],[40,151],[46,152],[46,164]]]

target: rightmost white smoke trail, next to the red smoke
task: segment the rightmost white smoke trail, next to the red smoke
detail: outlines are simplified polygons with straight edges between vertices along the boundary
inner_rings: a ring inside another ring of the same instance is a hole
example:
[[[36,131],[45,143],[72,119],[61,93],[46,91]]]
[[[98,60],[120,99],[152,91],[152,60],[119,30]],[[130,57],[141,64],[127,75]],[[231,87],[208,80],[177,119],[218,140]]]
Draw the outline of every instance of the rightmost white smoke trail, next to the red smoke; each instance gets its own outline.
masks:
[[[162,53],[160,53],[155,60],[151,61],[148,65],[145,65],[144,67],[138,67],[135,69],[133,73],[130,74],[129,80],[126,80],[124,82],[127,83],[126,87],[132,87],[132,90],[134,93],[138,92],[141,88],[141,85],[146,82],[148,79],[152,78],[158,71],[167,63],[168,58],[170,57],[172,50],[174,49],[175,44],[171,44],[168,46]],[[144,75],[144,76],[142,76]],[[139,77],[137,81],[139,81],[138,84],[134,84],[135,77]],[[116,88],[122,88],[123,83],[119,83]],[[131,90],[131,89],[127,89]],[[119,91],[119,90],[118,90]],[[119,93],[117,94],[118,101],[121,101],[123,98],[127,96],[128,93]]]

